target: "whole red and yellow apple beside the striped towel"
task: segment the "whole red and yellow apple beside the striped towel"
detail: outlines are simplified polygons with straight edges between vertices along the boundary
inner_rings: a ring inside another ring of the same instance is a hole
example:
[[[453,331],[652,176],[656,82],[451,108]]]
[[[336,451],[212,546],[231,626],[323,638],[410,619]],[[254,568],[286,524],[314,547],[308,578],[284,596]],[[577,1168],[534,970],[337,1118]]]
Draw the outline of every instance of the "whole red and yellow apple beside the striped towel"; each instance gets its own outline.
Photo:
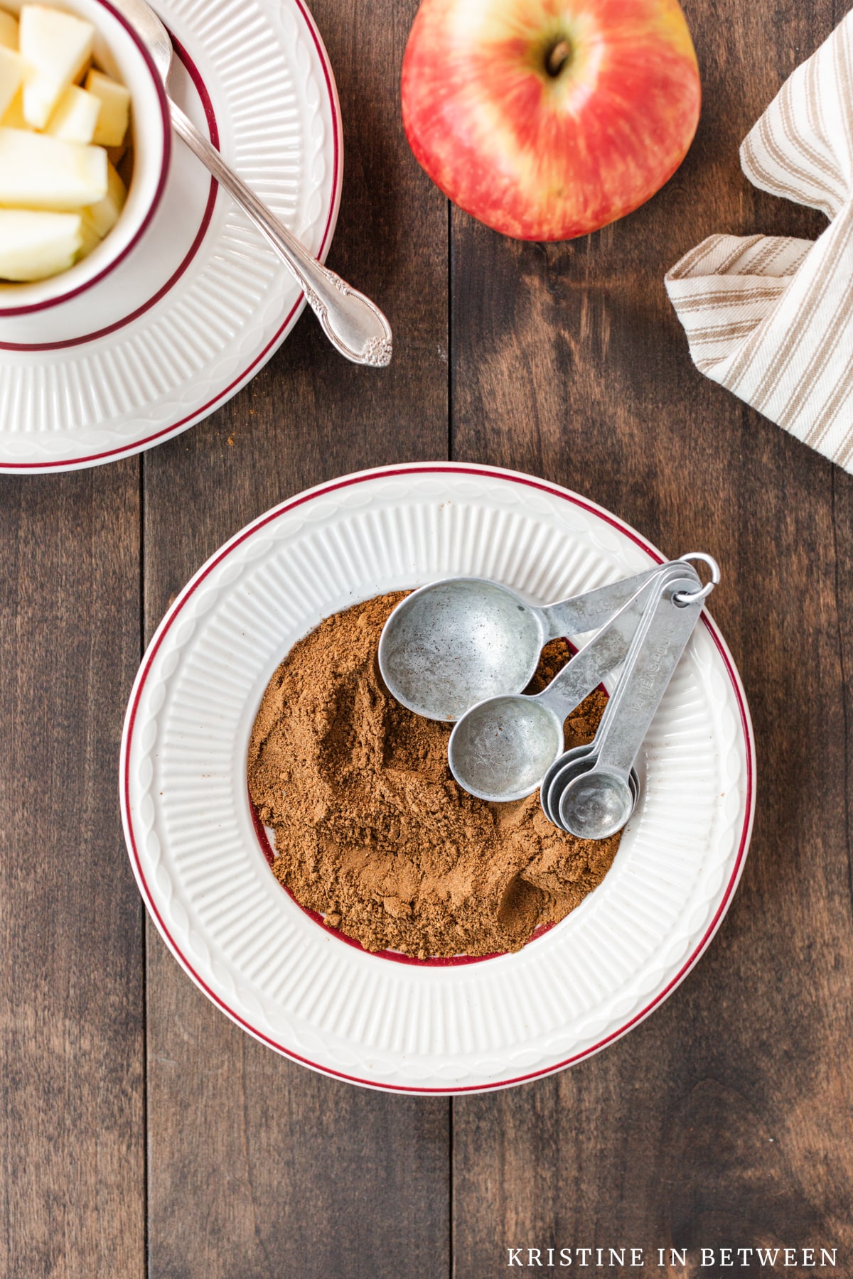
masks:
[[[701,91],[677,0],[423,0],[402,95],[409,145],[454,203],[556,240],[671,178]]]

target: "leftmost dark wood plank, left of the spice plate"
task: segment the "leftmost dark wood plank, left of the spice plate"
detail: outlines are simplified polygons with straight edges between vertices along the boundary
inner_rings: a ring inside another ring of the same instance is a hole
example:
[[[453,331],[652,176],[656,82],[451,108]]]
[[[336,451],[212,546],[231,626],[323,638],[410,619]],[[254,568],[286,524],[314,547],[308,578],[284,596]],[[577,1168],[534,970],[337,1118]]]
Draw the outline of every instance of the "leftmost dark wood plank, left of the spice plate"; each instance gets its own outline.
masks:
[[[118,810],[139,466],[0,480],[9,1279],[145,1274],[142,907]]]

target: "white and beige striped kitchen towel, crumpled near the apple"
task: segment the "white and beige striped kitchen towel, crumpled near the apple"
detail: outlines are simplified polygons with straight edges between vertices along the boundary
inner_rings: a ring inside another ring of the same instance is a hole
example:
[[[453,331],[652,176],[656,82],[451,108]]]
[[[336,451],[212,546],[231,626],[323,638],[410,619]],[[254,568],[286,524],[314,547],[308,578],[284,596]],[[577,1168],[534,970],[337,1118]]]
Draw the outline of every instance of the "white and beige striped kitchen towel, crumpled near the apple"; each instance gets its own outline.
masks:
[[[696,367],[853,472],[853,10],[740,147],[762,191],[820,208],[820,239],[710,235],[666,275]]]

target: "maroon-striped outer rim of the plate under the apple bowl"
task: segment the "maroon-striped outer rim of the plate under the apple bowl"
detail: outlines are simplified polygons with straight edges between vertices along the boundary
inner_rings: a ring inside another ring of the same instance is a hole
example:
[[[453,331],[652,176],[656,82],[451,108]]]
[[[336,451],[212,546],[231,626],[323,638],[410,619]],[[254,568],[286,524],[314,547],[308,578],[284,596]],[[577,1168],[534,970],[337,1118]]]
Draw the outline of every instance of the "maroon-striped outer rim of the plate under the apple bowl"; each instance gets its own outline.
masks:
[[[106,3],[106,0],[102,0]],[[329,247],[331,230],[335,224],[335,217],[338,212],[338,205],[340,200],[340,182],[341,182],[341,125],[340,125],[340,109],[338,105],[338,92],[335,90],[335,82],[331,75],[331,65],[329,63],[329,55],[320,38],[320,32],[317,31],[316,23],[309,13],[309,10],[303,4],[303,0],[294,0],[299,13],[302,14],[308,35],[311,36],[315,47],[317,50],[317,56],[320,58],[320,64],[322,67],[324,81],[326,84],[326,95],[329,100],[329,109],[331,114],[331,133],[333,133],[333,171],[331,171],[331,192],[329,201],[329,210],[326,214],[326,225],[324,228],[322,239],[320,242],[320,249],[317,256],[322,260],[324,252]],[[170,281],[173,285],[176,283],[175,279]],[[155,297],[148,302],[148,310],[156,302],[160,302],[160,297]],[[73,467],[86,467],[92,466],[97,462],[107,462],[110,458],[125,458],[132,457],[134,453],[142,453],[148,445],[155,444],[159,440],[166,440],[171,435],[178,435],[182,430],[192,426],[194,422],[201,421],[208,413],[225,403],[239,388],[265,363],[266,359],[275,352],[276,345],[279,345],[288,331],[290,322],[299,311],[304,302],[304,294],[301,293],[297,301],[293,303],[286,316],[284,317],[281,325],[276,333],[270,338],[263,349],[254,357],[254,359],[234,377],[228,386],[207,400],[200,408],[193,409],[192,413],[187,413],[185,417],[179,418],[170,426],[164,426],[160,431],[155,431],[152,435],[146,435],[142,440],[134,440],[132,444],[123,444],[116,449],[104,449],[100,453],[84,454],[81,458],[61,458],[56,462],[0,462],[0,475],[8,475],[14,472],[50,472],[50,471],[70,471]],[[137,318],[134,316],[134,318]],[[49,350],[60,349],[59,343],[47,344]],[[1,348],[0,348],[1,349]]]

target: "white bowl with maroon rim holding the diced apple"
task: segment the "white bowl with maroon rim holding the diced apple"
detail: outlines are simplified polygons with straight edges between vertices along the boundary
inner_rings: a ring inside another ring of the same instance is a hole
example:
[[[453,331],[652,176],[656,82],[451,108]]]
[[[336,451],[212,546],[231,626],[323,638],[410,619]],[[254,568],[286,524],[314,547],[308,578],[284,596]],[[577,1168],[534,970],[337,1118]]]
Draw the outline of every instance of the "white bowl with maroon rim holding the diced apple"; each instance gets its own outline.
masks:
[[[92,23],[96,63],[130,90],[133,178],[118,223],[82,262],[33,284],[0,284],[0,317],[59,306],[118,266],[137,246],[160,203],[171,156],[171,124],[162,82],[151,55],[128,20],[109,0],[47,3]],[[20,8],[19,0],[0,0],[0,4],[5,9]]]

